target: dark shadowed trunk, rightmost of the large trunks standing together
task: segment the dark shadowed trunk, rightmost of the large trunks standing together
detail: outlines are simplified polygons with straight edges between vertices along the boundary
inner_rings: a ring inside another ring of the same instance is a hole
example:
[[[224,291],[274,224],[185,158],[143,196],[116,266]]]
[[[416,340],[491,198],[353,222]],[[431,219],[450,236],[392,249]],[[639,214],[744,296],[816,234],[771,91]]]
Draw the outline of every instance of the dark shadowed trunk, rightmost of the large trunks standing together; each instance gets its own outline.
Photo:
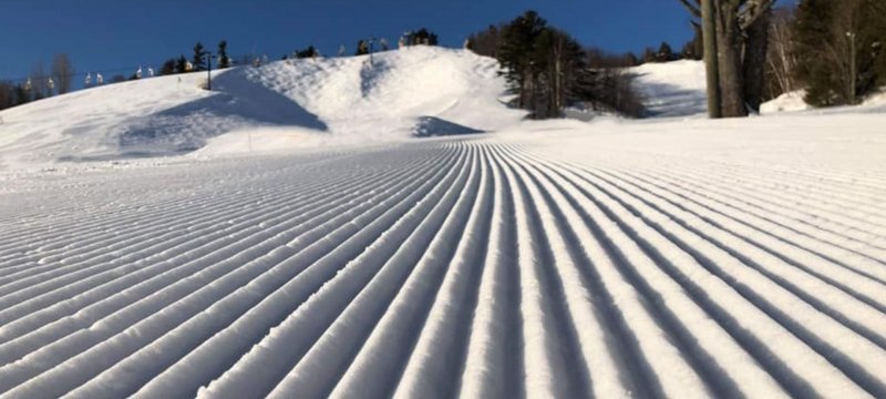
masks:
[[[755,113],[760,113],[765,85],[770,11],[765,12],[748,27],[744,42],[744,102]]]

